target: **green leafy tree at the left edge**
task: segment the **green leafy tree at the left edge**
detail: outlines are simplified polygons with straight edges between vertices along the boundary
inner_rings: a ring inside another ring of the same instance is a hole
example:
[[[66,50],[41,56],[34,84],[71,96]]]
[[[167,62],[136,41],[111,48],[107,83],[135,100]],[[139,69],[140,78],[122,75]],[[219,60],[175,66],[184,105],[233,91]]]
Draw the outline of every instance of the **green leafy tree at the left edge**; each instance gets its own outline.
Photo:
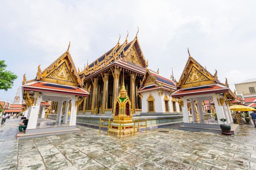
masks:
[[[13,82],[18,76],[6,70],[7,65],[4,62],[4,60],[0,60],[0,89],[7,91],[12,88]]]

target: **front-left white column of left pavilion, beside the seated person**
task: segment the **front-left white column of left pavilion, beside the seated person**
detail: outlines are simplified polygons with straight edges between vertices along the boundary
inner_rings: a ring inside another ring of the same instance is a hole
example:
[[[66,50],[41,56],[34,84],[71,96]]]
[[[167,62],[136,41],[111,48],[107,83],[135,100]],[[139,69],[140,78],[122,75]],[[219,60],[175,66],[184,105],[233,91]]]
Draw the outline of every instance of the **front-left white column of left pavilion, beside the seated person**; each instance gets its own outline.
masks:
[[[35,96],[36,98],[36,96]],[[37,119],[38,119],[38,113],[40,108],[40,103],[42,102],[42,96],[38,96],[36,105],[34,104],[29,111],[28,114],[28,123],[27,123],[27,129],[36,129],[37,127]]]

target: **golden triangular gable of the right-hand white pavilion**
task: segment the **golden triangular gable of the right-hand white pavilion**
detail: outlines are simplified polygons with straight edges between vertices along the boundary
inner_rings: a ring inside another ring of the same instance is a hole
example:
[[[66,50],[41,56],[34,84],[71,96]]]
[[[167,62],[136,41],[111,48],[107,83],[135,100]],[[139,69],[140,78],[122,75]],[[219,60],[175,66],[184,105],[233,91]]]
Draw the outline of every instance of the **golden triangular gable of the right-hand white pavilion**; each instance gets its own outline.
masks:
[[[200,85],[210,85],[219,83],[217,80],[217,72],[214,76],[202,67],[192,56],[189,56],[188,62],[182,72],[178,88],[188,88]]]

